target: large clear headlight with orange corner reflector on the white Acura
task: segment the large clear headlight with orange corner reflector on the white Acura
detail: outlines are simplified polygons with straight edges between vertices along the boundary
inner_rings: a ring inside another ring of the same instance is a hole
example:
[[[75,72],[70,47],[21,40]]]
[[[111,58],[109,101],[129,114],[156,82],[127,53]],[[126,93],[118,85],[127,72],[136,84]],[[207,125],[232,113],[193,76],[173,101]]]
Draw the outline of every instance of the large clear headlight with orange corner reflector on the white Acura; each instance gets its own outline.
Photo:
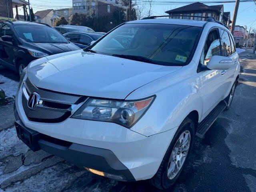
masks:
[[[89,98],[71,118],[113,122],[130,128],[145,114],[154,98],[136,101]]]

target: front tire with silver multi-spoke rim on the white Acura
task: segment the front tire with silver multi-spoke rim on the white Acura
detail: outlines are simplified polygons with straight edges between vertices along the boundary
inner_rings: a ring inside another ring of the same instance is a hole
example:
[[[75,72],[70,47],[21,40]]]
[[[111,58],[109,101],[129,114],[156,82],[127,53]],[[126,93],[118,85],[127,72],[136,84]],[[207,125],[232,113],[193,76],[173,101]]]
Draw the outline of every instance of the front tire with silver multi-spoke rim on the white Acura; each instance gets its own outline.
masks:
[[[180,124],[164,155],[158,171],[150,183],[159,189],[171,188],[182,174],[195,136],[194,122],[186,117]]]

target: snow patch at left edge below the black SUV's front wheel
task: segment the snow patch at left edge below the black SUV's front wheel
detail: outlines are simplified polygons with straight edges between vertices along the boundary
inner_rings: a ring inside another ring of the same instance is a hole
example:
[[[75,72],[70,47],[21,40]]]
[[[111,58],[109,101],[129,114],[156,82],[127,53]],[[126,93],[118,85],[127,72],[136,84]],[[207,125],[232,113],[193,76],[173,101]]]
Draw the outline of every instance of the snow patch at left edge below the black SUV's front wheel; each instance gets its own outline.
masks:
[[[1,84],[3,83],[3,84]],[[7,97],[13,97],[16,95],[19,82],[6,78],[0,75],[0,88],[4,90]]]

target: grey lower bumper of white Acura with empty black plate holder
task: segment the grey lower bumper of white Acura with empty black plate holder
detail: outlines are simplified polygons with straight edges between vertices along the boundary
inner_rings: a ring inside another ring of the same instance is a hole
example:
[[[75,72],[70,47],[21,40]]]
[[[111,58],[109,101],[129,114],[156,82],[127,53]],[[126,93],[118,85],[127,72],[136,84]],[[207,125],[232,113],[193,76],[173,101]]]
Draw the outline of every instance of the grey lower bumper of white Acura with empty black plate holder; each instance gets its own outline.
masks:
[[[114,176],[119,176],[123,181],[135,181],[131,172],[122,164],[114,153],[107,149],[71,143],[26,128],[20,120],[15,122],[18,137],[33,151],[44,150],[60,156],[80,168],[100,170]],[[28,133],[27,139],[24,132]]]

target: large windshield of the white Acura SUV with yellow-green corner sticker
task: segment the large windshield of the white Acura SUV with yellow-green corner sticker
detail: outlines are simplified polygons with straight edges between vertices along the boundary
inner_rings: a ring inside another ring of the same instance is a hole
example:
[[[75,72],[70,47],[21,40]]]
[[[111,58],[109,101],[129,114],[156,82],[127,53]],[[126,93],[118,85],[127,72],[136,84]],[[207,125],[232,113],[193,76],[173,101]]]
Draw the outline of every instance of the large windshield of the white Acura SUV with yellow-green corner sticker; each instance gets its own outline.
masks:
[[[200,30],[172,24],[124,24],[91,50],[154,64],[183,66],[192,54]]]

